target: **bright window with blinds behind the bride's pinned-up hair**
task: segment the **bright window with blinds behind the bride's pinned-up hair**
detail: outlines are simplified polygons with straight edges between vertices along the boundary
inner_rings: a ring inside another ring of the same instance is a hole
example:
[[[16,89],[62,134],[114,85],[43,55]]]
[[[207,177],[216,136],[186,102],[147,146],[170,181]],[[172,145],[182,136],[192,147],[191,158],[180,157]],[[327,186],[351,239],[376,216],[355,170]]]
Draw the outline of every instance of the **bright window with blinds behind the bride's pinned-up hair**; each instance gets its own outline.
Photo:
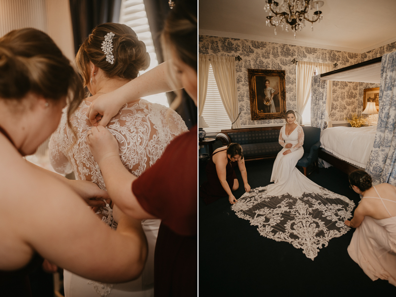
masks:
[[[122,0],[120,11],[120,24],[125,24],[132,28],[138,35],[139,40],[146,44],[146,49],[150,55],[150,66],[146,71],[140,71],[139,75],[147,72],[158,65],[157,55],[152,42],[150,27],[143,0]],[[146,100],[159,103],[169,107],[168,99],[165,93],[145,97]]]

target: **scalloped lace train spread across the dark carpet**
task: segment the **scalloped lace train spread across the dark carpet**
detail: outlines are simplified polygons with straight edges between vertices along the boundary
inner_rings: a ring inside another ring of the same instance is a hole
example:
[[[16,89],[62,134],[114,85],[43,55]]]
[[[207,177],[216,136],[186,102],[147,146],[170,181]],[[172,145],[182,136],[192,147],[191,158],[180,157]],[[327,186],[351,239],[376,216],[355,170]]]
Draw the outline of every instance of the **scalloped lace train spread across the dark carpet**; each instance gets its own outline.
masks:
[[[324,188],[299,197],[288,193],[274,197],[267,193],[271,186],[252,189],[232,206],[238,217],[257,226],[260,235],[301,248],[313,260],[330,239],[350,229],[344,224],[354,207],[348,198]]]

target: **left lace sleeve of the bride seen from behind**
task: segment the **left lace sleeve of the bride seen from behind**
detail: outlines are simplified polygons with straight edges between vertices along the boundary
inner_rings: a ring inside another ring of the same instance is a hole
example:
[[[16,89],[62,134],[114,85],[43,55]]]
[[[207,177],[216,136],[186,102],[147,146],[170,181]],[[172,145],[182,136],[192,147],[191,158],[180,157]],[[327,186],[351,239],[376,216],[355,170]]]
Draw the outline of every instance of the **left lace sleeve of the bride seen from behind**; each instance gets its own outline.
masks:
[[[62,151],[63,142],[62,142],[61,133],[63,131],[61,128],[64,127],[66,121],[65,116],[66,114],[63,113],[58,128],[51,135],[51,139],[49,140],[48,152],[49,152],[49,161],[53,169],[58,173],[69,174],[70,172],[73,171],[73,168],[69,163],[69,160]]]

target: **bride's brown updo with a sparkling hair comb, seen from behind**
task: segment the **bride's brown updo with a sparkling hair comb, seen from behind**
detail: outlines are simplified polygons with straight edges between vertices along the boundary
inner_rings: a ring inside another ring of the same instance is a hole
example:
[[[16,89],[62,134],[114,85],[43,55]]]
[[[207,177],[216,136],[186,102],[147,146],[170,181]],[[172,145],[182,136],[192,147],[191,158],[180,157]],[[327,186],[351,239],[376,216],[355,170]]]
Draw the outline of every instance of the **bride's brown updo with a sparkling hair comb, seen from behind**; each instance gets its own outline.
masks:
[[[114,33],[112,54],[114,63],[106,61],[106,54],[101,49],[104,37]],[[127,25],[105,23],[97,26],[81,45],[76,55],[76,67],[83,77],[84,86],[90,81],[89,62],[99,67],[108,78],[136,78],[139,71],[150,65],[150,56],[143,41]]]

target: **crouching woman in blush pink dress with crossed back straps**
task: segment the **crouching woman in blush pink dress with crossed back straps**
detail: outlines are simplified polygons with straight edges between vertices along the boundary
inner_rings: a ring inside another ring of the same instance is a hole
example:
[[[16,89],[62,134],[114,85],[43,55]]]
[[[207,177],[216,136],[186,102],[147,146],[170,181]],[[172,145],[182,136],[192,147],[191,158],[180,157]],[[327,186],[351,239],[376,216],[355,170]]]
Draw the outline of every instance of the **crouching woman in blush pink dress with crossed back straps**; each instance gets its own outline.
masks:
[[[356,228],[348,253],[373,281],[380,278],[396,286],[396,187],[373,186],[364,170],[351,172],[349,183],[361,201],[353,218],[345,221]]]

